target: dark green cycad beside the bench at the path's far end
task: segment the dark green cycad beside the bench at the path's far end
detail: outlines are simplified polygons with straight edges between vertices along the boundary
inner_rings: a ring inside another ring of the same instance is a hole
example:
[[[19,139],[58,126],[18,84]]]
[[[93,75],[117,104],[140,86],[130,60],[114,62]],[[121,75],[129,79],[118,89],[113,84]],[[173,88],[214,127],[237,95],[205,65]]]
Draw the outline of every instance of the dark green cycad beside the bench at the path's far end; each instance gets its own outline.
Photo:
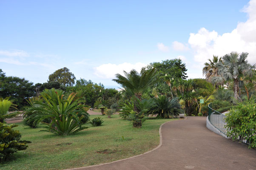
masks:
[[[153,111],[159,118],[174,118],[179,116],[180,113],[183,113],[177,97],[170,99],[169,97],[162,95],[155,98],[154,102],[155,106]]]

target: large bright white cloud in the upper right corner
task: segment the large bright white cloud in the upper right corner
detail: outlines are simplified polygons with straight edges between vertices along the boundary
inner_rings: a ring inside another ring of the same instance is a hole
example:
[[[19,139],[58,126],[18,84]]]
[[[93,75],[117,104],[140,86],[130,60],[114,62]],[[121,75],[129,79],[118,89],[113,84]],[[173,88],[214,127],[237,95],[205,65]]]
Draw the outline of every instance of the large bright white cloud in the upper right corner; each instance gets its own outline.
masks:
[[[245,23],[239,23],[230,33],[219,35],[216,31],[200,28],[191,33],[188,43],[194,52],[194,60],[204,63],[213,54],[223,56],[231,51],[248,52],[248,61],[256,63],[256,0],[251,0],[243,11],[248,14]]]

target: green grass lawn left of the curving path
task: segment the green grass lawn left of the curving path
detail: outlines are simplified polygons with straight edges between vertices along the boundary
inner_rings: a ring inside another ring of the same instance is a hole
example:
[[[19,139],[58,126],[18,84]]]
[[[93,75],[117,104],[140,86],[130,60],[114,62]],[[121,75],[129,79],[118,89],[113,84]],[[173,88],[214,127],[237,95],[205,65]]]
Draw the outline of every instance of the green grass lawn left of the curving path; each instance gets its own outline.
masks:
[[[28,140],[27,150],[18,151],[14,159],[0,164],[1,170],[60,170],[111,162],[145,153],[159,144],[159,127],[174,119],[148,119],[141,129],[132,128],[131,122],[118,115],[91,115],[102,117],[100,127],[91,127],[71,136],[31,129],[17,123],[22,140]]]

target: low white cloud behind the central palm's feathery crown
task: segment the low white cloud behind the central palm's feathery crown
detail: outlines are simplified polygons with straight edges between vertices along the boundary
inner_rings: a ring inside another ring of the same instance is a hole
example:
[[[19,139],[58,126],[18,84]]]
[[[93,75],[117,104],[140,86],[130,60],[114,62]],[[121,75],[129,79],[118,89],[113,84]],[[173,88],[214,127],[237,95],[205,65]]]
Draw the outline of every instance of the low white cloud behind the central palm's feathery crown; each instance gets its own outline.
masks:
[[[96,68],[94,68],[94,74],[97,77],[103,78],[103,79],[113,79],[115,78],[115,74],[119,73],[123,75],[123,71],[129,72],[131,69],[135,69],[138,72],[140,72],[142,67],[145,67],[146,64],[137,62],[136,64],[131,64],[124,62],[122,64],[116,65],[116,64],[102,64]]]

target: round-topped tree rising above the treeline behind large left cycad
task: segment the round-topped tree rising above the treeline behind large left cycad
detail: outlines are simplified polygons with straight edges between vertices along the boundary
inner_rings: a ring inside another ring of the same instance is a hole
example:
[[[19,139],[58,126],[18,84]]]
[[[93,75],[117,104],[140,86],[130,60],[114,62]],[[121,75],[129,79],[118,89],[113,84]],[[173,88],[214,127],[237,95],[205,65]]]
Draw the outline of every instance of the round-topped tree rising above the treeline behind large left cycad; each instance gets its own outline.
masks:
[[[57,71],[54,71],[53,74],[49,75],[48,82],[59,82],[60,84],[66,86],[73,86],[75,83],[76,77],[70,70],[66,67],[60,68]]]

